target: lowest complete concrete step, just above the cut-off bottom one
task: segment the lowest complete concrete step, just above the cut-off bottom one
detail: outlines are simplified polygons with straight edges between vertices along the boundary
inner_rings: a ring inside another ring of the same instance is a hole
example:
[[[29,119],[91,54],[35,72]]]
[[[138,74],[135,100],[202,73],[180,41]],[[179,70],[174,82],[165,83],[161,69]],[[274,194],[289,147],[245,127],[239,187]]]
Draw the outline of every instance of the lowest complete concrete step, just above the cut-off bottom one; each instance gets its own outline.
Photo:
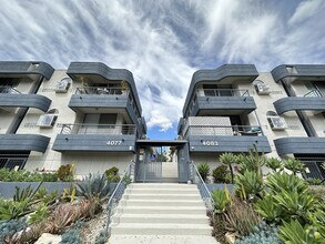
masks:
[[[118,235],[211,235],[207,224],[112,224],[112,234]]]

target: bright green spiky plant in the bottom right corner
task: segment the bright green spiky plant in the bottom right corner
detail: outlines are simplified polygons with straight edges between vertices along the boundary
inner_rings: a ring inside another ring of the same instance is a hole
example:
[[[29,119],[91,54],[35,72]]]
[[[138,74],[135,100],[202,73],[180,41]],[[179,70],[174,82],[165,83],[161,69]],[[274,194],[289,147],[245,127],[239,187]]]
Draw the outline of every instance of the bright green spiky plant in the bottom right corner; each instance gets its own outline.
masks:
[[[324,238],[315,226],[303,226],[297,220],[284,222],[278,228],[278,238],[288,244],[324,244]]]

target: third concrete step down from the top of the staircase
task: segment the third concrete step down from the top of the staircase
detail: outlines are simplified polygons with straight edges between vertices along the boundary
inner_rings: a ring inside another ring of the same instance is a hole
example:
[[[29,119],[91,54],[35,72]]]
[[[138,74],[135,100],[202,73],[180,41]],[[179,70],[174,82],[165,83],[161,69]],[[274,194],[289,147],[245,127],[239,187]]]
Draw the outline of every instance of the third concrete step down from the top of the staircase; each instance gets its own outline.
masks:
[[[201,200],[200,194],[123,194],[123,200]]]

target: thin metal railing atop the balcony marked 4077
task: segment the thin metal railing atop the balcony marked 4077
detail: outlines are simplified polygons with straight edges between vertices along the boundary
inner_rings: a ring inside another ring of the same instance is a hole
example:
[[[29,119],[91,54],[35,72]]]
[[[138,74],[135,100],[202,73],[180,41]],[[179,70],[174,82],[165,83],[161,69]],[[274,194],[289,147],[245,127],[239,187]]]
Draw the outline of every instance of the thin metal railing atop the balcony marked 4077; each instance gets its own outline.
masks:
[[[63,124],[61,134],[135,134],[134,124]]]

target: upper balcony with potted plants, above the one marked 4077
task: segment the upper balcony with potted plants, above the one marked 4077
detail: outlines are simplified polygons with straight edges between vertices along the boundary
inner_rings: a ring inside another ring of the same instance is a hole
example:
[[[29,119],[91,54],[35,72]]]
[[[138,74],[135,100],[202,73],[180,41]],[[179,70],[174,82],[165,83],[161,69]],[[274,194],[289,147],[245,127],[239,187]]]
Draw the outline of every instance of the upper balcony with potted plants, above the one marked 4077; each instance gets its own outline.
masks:
[[[71,96],[69,102],[69,108],[80,113],[89,113],[93,110],[115,112],[118,109],[121,110],[121,113],[126,111],[134,124],[139,123],[140,112],[130,90],[99,87],[77,88],[75,94]]]

